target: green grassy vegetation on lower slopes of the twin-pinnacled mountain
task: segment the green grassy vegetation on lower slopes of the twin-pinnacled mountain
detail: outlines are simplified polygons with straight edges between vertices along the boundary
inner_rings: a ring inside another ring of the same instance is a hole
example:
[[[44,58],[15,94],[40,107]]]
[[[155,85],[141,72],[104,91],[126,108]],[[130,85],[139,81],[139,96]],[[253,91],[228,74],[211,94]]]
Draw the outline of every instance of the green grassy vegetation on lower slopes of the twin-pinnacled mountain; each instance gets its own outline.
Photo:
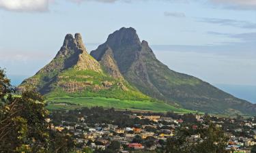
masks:
[[[111,82],[113,84],[110,88],[102,87],[102,82]],[[106,97],[115,99],[126,100],[152,100],[152,98],[143,95],[139,90],[136,90],[130,86],[127,82],[122,80],[111,78],[103,72],[96,72],[91,70],[79,71],[77,69],[68,69],[59,74],[59,84],[65,84],[66,82],[75,82],[76,84],[83,84],[88,82],[89,85],[84,86],[83,90],[75,92],[67,92],[56,84],[52,84],[53,90],[51,90],[47,97]],[[122,90],[119,84],[122,82],[126,86],[127,90]],[[97,89],[96,89],[97,87]]]

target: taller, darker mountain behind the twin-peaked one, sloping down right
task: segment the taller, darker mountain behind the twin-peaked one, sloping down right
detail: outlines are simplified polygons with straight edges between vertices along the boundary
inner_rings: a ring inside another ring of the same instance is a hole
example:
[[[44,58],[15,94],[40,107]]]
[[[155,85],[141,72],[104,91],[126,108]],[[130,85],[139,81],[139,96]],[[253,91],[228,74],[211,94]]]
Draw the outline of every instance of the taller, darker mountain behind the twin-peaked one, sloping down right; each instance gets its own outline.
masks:
[[[256,114],[256,105],[198,78],[169,69],[158,61],[147,41],[140,41],[132,28],[115,31],[104,44],[91,51],[91,56],[103,67],[109,67],[101,62],[104,54],[110,54],[111,61],[115,61],[119,69],[115,73],[121,73],[119,75],[128,83],[149,97],[208,113]]]

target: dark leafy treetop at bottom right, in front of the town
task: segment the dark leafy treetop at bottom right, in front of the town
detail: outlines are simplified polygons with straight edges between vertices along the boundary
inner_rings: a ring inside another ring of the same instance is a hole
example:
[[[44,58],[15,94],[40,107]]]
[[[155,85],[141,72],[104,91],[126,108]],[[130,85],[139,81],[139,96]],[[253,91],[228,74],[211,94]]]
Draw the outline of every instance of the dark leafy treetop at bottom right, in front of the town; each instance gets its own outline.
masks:
[[[199,135],[192,138],[192,135]],[[167,153],[227,153],[225,150],[228,138],[224,131],[210,124],[208,128],[199,126],[199,129],[186,129],[182,127],[175,137],[167,139]]]

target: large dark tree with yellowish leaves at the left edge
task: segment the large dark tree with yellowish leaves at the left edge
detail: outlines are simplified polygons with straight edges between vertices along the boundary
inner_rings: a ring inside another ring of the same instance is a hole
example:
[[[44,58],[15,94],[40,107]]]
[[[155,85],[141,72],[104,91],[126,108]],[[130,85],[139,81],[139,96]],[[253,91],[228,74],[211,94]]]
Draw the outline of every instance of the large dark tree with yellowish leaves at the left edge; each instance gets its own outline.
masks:
[[[1,152],[42,152],[47,148],[48,133],[42,96],[28,88],[14,97],[10,80],[0,70],[0,150]]]

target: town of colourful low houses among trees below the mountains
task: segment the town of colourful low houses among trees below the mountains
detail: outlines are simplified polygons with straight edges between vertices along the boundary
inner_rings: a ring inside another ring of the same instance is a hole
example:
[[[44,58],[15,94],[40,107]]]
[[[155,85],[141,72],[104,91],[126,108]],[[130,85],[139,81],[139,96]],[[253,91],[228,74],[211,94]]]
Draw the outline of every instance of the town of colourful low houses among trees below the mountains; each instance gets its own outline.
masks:
[[[175,136],[177,129],[196,131],[199,126],[208,128],[210,124],[224,132],[227,152],[247,153],[255,150],[256,145],[255,118],[240,115],[217,117],[85,107],[54,111],[46,122],[54,131],[68,133],[81,152],[165,152],[167,140]],[[200,135],[189,137],[196,141]]]

